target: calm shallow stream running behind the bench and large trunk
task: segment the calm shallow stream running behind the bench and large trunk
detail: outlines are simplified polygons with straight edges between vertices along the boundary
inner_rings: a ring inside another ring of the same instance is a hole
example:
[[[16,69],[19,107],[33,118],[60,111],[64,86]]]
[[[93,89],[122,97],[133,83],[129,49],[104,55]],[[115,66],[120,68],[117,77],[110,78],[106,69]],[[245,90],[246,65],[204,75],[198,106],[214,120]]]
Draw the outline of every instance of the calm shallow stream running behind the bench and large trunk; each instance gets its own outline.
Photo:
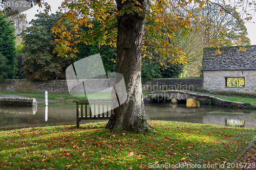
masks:
[[[256,128],[256,110],[208,105],[189,108],[186,104],[170,103],[147,103],[145,110],[146,115],[154,120],[220,126],[225,126],[225,122],[239,120],[244,122],[245,128]],[[81,120],[81,124],[98,121],[101,120]],[[76,124],[76,104],[50,104],[47,112],[46,107],[40,105],[37,108],[0,106],[0,130],[70,124]]]

